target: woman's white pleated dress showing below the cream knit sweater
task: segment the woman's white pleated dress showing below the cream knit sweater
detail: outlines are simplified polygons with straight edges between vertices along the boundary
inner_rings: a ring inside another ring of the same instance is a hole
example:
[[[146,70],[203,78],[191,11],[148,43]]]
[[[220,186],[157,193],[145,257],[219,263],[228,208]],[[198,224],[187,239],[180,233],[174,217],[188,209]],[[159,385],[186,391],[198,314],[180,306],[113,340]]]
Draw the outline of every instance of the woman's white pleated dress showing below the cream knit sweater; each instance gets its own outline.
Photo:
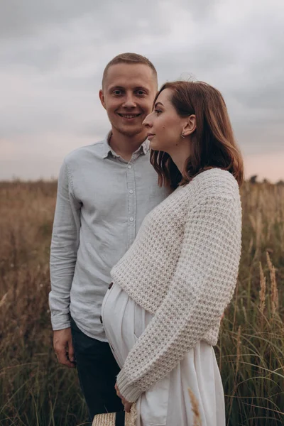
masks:
[[[114,283],[102,304],[107,339],[120,368],[153,315]],[[199,342],[184,359],[136,401],[136,426],[193,426],[188,388],[195,395],[202,426],[225,426],[224,391],[214,349]]]

